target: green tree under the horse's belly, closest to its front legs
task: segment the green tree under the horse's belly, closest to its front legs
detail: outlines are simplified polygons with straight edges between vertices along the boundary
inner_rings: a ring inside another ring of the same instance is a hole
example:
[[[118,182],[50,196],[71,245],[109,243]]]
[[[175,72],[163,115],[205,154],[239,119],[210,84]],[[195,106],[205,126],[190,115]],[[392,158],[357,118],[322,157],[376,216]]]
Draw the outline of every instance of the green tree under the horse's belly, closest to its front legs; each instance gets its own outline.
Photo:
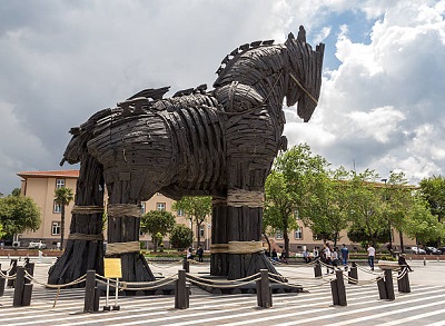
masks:
[[[174,209],[181,209],[191,225],[197,228],[197,243],[201,244],[200,228],[207,216],[211,214],[211,197],[182,197],[181,200],[175,201]]]

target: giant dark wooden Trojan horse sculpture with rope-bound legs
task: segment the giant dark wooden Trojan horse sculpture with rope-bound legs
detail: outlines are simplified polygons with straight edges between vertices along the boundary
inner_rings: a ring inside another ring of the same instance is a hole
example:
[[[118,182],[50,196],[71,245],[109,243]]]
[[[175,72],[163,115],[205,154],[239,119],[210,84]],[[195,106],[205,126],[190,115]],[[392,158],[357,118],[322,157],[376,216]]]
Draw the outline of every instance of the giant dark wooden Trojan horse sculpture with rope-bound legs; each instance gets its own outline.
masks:
[[[49,273],[50,284],[102,270],[103,187],[106,256],[120,257],[127,281],[152,280],[139,253],[140,202],[156,192],[172,199],[212,196],[210,274],[236,279],[261,268],[276,273],[260,243],[264,186],[281,136],[283,102],[298,102],[308,121],[322,85],[324,45],[314,51],[303,27],[284,45],[240,46],[206,86],[164,99],[168,87],[146,89],[93,115],[73,135],[63,164],[80,162],[70,236]]]

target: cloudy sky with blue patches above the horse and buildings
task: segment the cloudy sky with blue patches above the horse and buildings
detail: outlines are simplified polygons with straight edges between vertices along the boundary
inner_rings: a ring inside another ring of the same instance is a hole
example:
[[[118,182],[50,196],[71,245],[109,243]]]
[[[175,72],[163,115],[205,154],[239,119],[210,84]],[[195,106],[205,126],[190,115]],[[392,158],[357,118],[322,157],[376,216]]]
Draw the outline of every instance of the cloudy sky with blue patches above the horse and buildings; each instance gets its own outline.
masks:
[[[289,146],[333,168],[445,175],[445,0],[0,0],[0,192],[59,166],[71,127],[139,90],[211,88],[240,45],[303,24],[326,45],[309,122]]]

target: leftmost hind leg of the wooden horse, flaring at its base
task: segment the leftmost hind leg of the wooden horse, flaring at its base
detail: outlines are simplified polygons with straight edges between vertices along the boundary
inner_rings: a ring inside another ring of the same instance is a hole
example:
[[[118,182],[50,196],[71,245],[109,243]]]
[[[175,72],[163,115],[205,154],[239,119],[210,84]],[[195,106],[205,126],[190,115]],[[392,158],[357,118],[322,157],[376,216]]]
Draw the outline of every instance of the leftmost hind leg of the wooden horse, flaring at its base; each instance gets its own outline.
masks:
[[[80,165],[75,204],[80,208],[98,209],[93,214],[81,210],[72,214],[70,236],[62,256],[48,271],[49,284],[70,283],[89,269],[103,274],[103,213],[100,211],[103,207],[102,166],[90,156],[85,157]],[[88,236],[92,238],[88,239]]]

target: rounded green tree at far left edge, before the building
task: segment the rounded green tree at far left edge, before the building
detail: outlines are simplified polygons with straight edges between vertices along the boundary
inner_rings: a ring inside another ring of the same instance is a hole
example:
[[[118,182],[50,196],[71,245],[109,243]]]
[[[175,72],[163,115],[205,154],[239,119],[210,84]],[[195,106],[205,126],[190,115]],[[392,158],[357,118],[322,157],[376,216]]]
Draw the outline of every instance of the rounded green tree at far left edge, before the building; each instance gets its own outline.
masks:
[[[0,224],[6,237],[40,227],[40,209],[37,204],[24,196],[7,196],[0,198]]]

